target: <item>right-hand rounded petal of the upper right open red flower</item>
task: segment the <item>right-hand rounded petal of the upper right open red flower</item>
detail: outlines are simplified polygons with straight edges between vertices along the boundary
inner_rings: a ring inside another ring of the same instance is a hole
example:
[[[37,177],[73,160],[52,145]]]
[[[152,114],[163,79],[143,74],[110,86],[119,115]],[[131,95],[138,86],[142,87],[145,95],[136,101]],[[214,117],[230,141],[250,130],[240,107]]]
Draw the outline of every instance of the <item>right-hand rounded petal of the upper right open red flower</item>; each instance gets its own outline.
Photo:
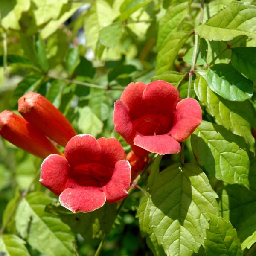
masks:
[[[202,110],[199,103],[192,98],[180,101],[176,110],[174,123],[169,134],[177,141],[184,141],[201,124]]]

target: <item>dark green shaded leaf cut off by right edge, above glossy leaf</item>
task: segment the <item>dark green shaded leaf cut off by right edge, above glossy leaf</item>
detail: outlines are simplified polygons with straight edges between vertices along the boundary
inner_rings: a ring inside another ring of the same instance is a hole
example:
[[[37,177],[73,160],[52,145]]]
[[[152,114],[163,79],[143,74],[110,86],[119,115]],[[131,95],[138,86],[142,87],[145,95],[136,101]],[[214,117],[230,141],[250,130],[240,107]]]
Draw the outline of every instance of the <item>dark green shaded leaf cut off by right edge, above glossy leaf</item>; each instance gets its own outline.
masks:
[[[256,81],[256,47],[231,48],[233,67],[247,78]]]

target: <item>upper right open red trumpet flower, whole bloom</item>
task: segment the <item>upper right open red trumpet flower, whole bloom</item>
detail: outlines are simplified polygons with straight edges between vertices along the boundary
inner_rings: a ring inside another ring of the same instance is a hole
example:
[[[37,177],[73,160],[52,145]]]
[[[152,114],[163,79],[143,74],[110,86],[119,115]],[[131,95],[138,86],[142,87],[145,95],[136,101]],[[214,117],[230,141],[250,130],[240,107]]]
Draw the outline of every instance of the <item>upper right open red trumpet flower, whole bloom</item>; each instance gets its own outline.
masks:
[[[180,100],[177,88],[166,81],[129,84],[115,103],[115,130],[135,154],[174,154],[202,121],[195,99]]]

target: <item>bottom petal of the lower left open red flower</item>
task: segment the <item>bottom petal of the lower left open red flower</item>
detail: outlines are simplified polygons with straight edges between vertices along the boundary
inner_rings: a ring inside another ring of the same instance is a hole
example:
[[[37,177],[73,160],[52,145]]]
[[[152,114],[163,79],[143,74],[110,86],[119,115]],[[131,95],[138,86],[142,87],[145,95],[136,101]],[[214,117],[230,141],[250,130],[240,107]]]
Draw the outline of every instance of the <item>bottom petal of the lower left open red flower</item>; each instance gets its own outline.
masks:
[[[106,202],[106,196],[104,192],[97,188],[77,187],[64,190],[59,197],[59,201],[63,207],[74,213],[78,211],[86,213],[102,207]]]

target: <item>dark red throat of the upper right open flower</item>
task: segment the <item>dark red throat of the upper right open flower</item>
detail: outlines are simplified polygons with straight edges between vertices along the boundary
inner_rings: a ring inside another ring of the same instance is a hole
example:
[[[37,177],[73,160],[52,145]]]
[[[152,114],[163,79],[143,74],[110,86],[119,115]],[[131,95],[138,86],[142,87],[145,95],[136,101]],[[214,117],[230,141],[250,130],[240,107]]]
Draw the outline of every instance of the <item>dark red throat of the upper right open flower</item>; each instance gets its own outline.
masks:
[[[163,114],[145,114],[133,121],[134,128],[142,135],[166,134],[172,128],[172,118]]]

